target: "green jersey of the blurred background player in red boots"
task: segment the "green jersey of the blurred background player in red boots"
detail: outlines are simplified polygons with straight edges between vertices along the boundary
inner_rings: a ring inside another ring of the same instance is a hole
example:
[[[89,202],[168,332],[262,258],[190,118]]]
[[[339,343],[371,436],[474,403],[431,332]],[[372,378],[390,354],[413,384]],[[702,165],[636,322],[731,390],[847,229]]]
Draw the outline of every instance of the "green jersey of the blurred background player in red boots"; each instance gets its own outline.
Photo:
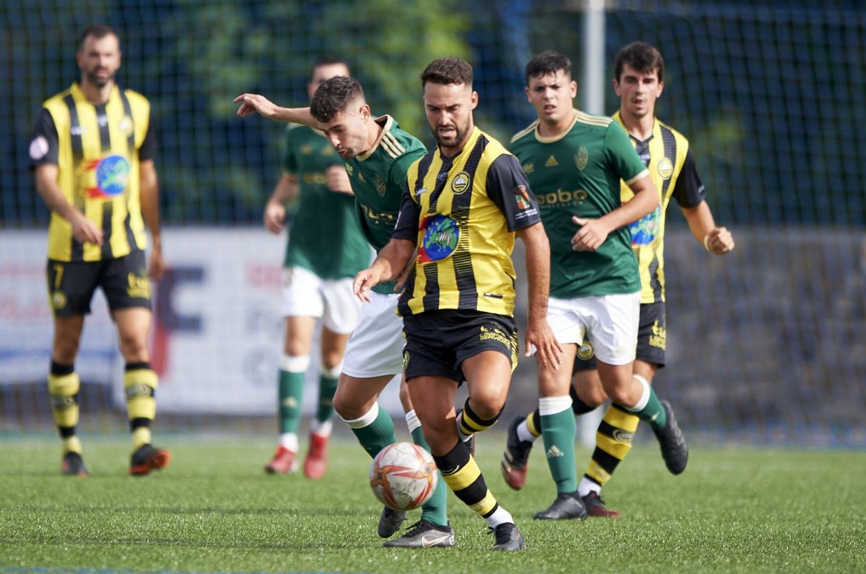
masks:
[[[299,204],[288,233],[286,267],[309,269],[321,279],[354,277],[370,261],[355,216],[355,199],[327,188],[325,171],[343,160],[322,132],[289,126],[283,171],[298,182]]]

